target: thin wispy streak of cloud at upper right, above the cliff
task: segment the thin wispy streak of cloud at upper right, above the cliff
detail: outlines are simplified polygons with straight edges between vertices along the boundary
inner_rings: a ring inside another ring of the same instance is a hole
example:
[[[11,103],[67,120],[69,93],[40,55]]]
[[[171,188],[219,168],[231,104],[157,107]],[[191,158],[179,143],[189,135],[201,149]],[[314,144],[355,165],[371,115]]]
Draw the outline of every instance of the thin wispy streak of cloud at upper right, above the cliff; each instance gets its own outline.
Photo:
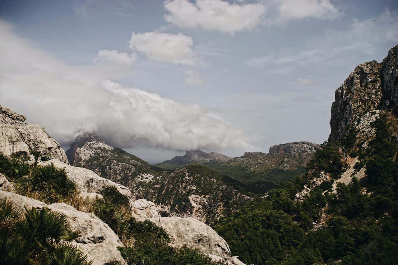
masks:
[[[341,64],[351,56],[374,54],[380,43],[398,41],[398,12],[386,11],[378,18],[353,20],[346,30],[326,30],[319,37],[308,40],[298,49],[248,60],[246,64],[256,68],[301,69],[308,65]]]

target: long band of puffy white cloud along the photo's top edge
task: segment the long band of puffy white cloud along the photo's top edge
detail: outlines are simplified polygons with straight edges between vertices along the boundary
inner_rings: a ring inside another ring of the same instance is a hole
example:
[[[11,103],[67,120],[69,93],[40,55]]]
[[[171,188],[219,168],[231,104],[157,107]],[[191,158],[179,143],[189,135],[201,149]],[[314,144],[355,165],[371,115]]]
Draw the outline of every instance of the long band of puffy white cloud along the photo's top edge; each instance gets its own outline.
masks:
[[[237,33],[263,24],[283,24],[295,19],[336,19],[339,10],[330,0],[269,0],[230,4],[224,0],[167,0],[164,19],[179,27]],[[267,16],[266,16],[267,14]]]

